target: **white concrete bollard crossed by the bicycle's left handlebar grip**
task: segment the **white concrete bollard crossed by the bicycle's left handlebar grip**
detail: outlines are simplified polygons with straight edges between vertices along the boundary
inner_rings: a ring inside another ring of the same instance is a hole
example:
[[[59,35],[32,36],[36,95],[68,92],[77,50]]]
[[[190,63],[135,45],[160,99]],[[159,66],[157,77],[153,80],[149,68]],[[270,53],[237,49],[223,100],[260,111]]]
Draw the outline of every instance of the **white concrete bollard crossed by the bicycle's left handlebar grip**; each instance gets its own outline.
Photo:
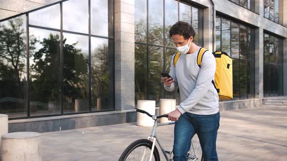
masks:
[[[138,100],[138,109],[144,110],[151,115],[156,113],[156,101],[155,100]],[[154,120],[145,113],[137,113],[137,126],[140,127],[152,127]]]

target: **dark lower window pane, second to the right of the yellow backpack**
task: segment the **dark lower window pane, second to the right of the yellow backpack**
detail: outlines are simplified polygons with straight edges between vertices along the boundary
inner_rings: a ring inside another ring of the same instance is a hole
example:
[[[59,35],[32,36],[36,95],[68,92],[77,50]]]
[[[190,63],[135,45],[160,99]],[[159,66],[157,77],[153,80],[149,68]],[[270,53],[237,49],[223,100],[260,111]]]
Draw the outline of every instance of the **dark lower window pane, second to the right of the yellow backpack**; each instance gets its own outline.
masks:
[[[240,99],[246,99],[248,94],[249,68],[248,62],[240,60]]]

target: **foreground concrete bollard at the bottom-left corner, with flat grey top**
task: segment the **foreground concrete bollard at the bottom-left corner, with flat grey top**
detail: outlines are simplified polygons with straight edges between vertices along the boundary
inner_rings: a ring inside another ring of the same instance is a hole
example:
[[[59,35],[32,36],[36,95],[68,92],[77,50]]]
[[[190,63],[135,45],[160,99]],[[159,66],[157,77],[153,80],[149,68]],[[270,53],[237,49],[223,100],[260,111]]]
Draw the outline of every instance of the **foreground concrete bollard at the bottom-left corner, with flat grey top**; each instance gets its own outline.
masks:
[[[40,139],[37,132],[2,135],[2,161],[41,161]]]

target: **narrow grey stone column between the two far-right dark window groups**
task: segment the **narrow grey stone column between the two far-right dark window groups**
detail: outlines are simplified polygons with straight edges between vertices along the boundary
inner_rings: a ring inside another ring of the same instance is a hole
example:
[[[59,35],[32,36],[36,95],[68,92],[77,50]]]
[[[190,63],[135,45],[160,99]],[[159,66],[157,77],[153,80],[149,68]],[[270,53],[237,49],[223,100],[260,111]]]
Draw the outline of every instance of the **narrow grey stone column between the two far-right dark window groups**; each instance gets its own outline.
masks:
[[[255,97],[263,98],[263,67],[264,67],[264,32],[263,28],[255,29]]]

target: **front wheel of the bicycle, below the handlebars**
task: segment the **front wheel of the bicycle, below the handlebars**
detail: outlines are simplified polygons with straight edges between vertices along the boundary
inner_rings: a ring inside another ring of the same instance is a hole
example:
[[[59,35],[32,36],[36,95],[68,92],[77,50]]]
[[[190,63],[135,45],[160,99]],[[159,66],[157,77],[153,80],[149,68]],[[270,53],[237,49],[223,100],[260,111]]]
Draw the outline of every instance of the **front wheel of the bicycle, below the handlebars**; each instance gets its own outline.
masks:
[[[147,139],[140,139],[128,145],[119,161],[149,161],[152,142]],[[160,154],[157,147],[154,147],[152,161],[160,161]]]

